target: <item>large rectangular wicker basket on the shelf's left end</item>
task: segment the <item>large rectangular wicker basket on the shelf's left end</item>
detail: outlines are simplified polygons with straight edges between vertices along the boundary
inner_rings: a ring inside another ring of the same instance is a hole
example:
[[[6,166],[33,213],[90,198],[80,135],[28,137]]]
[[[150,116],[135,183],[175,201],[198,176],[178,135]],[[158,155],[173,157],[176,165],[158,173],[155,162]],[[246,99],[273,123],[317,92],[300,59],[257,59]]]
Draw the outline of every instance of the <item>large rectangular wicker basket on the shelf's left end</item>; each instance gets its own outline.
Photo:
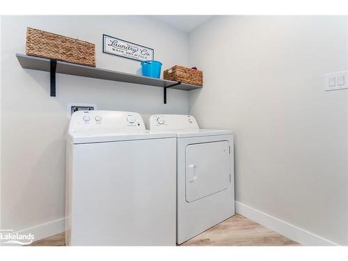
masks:
[[[95,67],[94,44],[29,27],[26,54]]]

